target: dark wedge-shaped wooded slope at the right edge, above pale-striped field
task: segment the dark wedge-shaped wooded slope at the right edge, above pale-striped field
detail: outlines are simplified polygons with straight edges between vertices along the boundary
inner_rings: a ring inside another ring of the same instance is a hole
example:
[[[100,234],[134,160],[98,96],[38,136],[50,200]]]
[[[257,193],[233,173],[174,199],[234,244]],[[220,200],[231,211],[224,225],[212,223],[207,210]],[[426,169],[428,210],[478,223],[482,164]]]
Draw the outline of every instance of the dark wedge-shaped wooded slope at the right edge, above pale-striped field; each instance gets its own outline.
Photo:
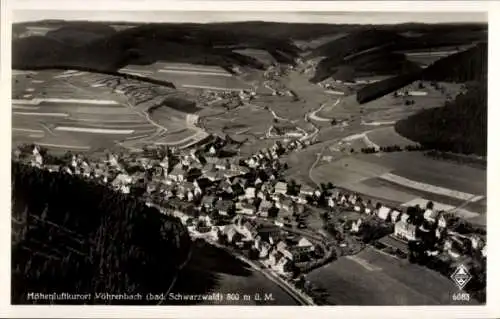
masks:
[[[422,111],[396,123],[396,131],[440,151],[486,156],[486,83],[469,85],[465,94],[444,107]]]

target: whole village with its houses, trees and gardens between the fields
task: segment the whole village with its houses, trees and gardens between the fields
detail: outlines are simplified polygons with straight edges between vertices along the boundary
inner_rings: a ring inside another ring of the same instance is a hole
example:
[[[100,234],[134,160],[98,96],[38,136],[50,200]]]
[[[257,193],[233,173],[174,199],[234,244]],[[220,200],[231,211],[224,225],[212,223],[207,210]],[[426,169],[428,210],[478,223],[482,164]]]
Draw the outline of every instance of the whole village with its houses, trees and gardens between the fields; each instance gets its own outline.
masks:
[[[91,159],[69,152],[54,157],[25,145],[13,158],[143,198],[179,217],[192,238],[242,254],[299,290],[301,275],[366,245],[445,273],[458,263],[485,265],[485,233],[432,202],[389,207],[335,181],[317,188],[287,181],[280,158],[306,147],[300,140],[276,141],[246,159],[232,156],[232,146],[214,136],[190,150],[155,146]]]

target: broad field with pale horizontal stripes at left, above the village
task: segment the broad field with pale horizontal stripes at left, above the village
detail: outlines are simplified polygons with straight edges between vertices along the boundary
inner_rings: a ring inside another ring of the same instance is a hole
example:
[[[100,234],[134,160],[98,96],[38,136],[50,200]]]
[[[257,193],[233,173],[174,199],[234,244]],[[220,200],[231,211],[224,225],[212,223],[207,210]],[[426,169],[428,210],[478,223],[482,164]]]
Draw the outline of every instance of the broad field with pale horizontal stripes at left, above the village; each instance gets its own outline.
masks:
[[[110,88],[92,87],[93,81],[109,76],[84,73],[58,78],[61,74],[74,73],[40,71],[14,77],[14,145],[37,142],[51,149],[90,151],[129,140],[139,145],[146,137],[156,137],[172,145],[182,144],[196,134],[187,129],[187,113],[164,107],[162,112],[148,116],[128,105],[125,96],[113,93]],[[26,91],[30,92],[30,98],[20,98],[21,92]],[[175,120],[174,115],[179,118]],[[155,135],[159,125],[165,131],[161,137]],[[183,131],[182,136],[168,136],[170,132],[179,131]]]

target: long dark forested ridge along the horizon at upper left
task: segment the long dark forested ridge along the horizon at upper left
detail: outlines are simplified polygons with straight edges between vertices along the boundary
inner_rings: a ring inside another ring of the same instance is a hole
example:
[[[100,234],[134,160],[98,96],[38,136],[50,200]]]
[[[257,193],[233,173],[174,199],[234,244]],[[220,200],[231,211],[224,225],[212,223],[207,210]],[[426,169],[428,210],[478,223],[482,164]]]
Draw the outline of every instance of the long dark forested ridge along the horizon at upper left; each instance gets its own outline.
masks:
[[[17,27],[20,29],[21,27]],[[104,28],[101,24],[95,29]],[[79,41],[68,36],[79,34]],[[105,36],[102,36],[105,34]],[[288,38],[259,34],[249,28],[232,29],[217,25],[198,24],[143,24],[130,29],[111,32],[90,32],[85,25],[61,25],[41,40],[26,37],[13,40],[14,68],[54,66],[86,67],[115,71],[127,64],[151,64],[156,61],[184,62],[263,68],[262,63],[234,52],[252,48],[268,51],[280,62],[293,63],[299,49]],[[34,42],[38,41],[38,42]],[[63,45],[50,45],[51,42]],[[49,54],[50,53],[50,54]]]

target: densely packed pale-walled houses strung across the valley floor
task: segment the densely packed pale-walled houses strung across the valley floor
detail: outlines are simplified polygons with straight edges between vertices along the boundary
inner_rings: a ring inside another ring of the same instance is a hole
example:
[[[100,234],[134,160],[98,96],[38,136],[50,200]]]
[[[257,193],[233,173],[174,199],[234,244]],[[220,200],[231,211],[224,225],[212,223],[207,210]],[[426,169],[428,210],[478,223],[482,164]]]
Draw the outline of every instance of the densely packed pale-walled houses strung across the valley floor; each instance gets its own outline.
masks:
[[[140,195],[146,202],[160,207],[167,204],[169,209],[180,212],[179,217],[192,232],[224,234],[230,243],[248,245],[248,242],[253,242],[259,257],[267,258],[269,267],[280,272],[286,272],[291,265],[302,260],[301,251],[311,252],[297,248],[310,247],[305,238],[296,244],[290,238],[282,239],[286,233],[283,227],[290,225],[289,220],[281,216],[301,214],[307,204],[318,205],[319,198],[324,199],[322,203],[329,210],[358,213],[360,217],[350,225],[354,234],[363,230],[368,217],[375,217],[393,225],[391,237],[397,241],[407,243],[432,237],[439,243],[435,249],[454,258],[464,253],[464,246],[486,255],[484,238],[450,231],[449,215],[431,206],[421,210],[422,218],[416,221],[415,214],[409,209],[404,211],[373,204],[357,194],[336,188],[326,191],[307,185],[296,187],[298,185],[280,179],[285,168],[279,161],[280,156],[304,147],[299,140],[275,142],[272,147],[240,160],[219,157],[223,145],[213,142],[205,145],[203,150],[166,149],[160,157],[156,154],[156,158],[110,153],[97,162],[82,155],[72,155],[64,166],[44,163],[40,149],[35,146],[29,161],[33,166],[50,171],[99,180],[123,193],[130,193],[140,185]],[[292,186],[296,187],[295,191]],[[265,219],[273,222],[267,226],[258,222]],[[255,226],[256,223],[260,226]],[[314,247],[308,249],[314,251]]]

